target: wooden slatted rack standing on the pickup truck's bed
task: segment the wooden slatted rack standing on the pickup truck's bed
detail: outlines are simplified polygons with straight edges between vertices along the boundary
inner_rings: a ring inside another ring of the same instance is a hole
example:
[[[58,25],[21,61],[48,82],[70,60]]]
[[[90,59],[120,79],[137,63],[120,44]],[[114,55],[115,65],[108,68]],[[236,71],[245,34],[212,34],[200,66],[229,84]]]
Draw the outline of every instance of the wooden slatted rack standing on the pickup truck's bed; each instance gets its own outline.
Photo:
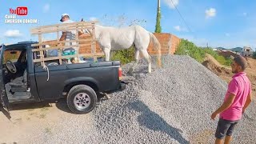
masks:
[[[60,41],[59,40],[59,32],[62,31],[70,31],[70,30],[75,30],[75,40],[64,40]],[[78,37],[78,30],[90,30],[91,33],[91,38],[86,38],[86,39],[79,39]],[[95,38],[95,22],[71,22],[71,23],[62,23],[62,24],[57,24],[57,25],[50,25],[50,26],[39,26],[36,28],[33,28],[30,30],[31,34],[38,34],[38,43],[33,44],[32,46],[37,47],[33,52],[39,52],[40,57],[34,57],[34,62],[46,62],[46,61],[51,61],[51,60],[59,60],[59,64],[62,65],[62,59],[65,58],[80,58],[80,57],[90,57],[94,58],[94,61],[97,60],[98,57],[102,57],[104,54],[103,53],[96,53],[96,38]],[[56,33],[57,34],[57,39],[54,42],[42,42],[42,34],[49,34],[49,33]],[[65,46],[66,42],[70,43],[76,43],[75,45],[71,46]],[[48,45],[48,47],[45,47]],[[79,49],[81,46],[91,46],[91,53],[88,54],[79,54]],[[72,54],[72,55],[62,55],[62,50],[70,47],[76,47],[77,48],[77,53]],[[56,57],[49,57],[45,58],[43,51],[44,50],[58,50],[58,56]],[[41,65],[42,66],[42,65]]]

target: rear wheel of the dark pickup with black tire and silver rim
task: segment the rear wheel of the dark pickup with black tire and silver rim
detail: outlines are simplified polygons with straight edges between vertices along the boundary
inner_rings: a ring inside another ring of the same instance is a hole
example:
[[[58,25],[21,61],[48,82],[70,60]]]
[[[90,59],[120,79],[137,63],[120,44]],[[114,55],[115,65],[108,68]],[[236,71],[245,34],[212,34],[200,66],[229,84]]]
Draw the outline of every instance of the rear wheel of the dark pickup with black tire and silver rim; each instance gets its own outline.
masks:
[[[90,99],[90,102],[85,99]],[[94,109],[97,102],[97,94],[90,86],[73,86],[67,95],[66,102],[74,114],[86,114]]]

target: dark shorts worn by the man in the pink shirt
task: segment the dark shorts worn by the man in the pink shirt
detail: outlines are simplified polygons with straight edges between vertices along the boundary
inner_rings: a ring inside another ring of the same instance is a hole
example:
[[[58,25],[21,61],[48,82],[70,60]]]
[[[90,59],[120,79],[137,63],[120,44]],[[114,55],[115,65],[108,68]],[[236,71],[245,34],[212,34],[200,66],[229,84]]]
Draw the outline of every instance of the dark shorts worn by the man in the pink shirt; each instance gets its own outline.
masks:
[[[222,139],[225,137],[225,135],[231,136],[234,131],[234,127],[237,124],[238,121],[229,121],[226,119],[219,118],[215,138]]]

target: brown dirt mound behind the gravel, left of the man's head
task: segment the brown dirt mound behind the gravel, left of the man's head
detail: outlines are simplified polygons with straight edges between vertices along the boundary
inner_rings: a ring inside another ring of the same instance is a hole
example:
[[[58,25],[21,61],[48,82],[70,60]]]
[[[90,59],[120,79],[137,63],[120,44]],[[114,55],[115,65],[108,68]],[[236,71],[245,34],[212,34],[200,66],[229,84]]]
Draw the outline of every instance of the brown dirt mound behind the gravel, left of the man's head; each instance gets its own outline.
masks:
[[[206,54],[205,61],[202,62],[203,66],[206,66],[209,70],[217,74],[218,76],[231,76],[232,71],[224,66],[222,66],[218,61],[211,56],[210,54]]]

